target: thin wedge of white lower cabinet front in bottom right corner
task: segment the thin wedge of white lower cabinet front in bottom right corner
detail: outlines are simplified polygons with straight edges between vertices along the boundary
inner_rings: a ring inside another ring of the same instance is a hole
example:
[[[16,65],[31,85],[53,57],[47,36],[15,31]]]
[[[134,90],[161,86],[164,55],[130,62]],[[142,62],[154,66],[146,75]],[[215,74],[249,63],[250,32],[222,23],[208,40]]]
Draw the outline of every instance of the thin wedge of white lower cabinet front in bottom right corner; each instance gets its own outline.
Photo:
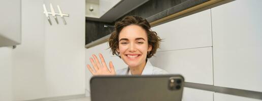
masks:
[[[224,94],[224,93],[214,93],[214,101],[262,101],[261,99],[254,99],[254,98],[248,98],[248,97],[242,97],[242,96],[236,96],[236,95],[230,95],[230,94]]]

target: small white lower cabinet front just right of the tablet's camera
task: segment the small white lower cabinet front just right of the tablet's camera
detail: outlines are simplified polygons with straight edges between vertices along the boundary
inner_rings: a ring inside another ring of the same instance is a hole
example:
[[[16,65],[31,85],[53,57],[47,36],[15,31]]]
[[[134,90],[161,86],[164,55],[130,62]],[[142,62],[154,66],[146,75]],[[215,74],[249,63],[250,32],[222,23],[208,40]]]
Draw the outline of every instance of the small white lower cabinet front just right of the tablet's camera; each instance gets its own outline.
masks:
[[[182,101],[213,101],[213,92],[184,87]]]

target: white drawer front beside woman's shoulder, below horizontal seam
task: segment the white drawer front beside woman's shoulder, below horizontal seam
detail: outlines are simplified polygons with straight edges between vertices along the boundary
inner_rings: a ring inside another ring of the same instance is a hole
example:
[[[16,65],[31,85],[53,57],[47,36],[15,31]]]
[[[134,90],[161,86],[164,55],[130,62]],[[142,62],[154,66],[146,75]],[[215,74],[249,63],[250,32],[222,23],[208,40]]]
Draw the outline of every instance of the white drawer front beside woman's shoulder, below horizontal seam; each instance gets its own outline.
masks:
[[[150,61],[169,73],[182,74],[186,82],[213,84],[211,47],[157,52]]]

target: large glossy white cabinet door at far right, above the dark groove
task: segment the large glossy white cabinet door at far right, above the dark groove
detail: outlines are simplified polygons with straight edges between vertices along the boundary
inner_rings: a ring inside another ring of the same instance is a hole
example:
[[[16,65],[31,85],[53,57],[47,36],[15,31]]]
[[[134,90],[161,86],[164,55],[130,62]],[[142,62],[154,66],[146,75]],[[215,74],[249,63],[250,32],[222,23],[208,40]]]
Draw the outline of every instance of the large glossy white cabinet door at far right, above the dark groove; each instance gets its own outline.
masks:
[[[212,8],[214,85],[262,91],[262,1]]]

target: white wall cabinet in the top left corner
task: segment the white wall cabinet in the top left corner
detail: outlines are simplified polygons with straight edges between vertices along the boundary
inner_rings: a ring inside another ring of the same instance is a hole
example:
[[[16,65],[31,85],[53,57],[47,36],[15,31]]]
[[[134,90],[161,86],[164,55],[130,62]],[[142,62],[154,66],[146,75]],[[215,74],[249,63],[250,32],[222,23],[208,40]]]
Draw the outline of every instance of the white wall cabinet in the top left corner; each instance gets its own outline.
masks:
[[[0,46],[21,43],[21,1],[0,1]]]

